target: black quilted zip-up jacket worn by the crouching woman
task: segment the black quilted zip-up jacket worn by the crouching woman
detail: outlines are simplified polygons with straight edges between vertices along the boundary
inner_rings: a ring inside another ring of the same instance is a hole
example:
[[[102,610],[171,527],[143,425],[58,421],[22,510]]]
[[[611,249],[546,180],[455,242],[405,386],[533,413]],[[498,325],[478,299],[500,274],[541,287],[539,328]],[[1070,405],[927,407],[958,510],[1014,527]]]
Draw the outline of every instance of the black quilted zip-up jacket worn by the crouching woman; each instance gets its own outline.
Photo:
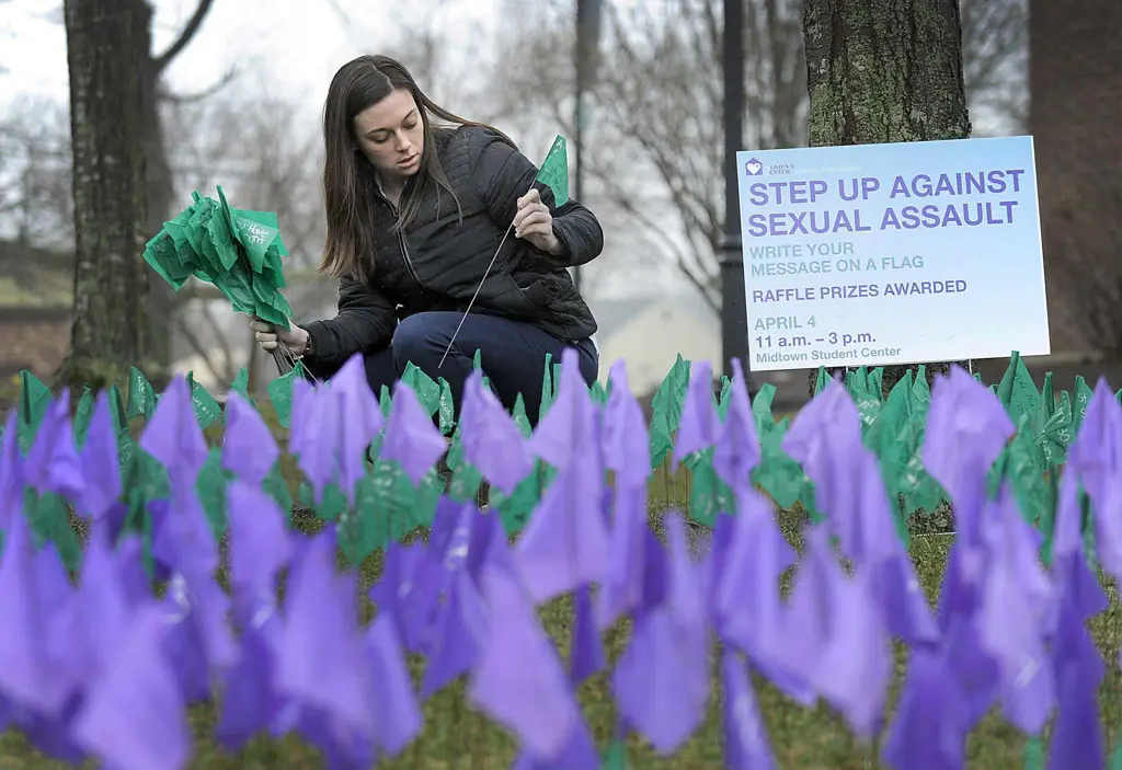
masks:
[[[403,196],[420,194],[421,208],[405,232],[395,231],[396,211],[371,173],[374,277],[369,282],[340,281],[339,315],[304,326],[312,337],[310,363],[316,368],[329,369],[357,352],[384,347],[397,321],[414,313],[463,312],[514,221],[517,200],[537,175],[522,152],[489,129],[439,131],[434,143],[459,211],[445,191],[427,184],[417,192],[411,179]],[[596,216],[576,201],[558,207],[549,187],[540,183],[535,187],[553,214],[553,232],[564,251],[550,256],[512,231],[471,312],[528,322],[561,340],[579,342],[596,332],[596,321],[565,268],[599,256],[604,232]]]

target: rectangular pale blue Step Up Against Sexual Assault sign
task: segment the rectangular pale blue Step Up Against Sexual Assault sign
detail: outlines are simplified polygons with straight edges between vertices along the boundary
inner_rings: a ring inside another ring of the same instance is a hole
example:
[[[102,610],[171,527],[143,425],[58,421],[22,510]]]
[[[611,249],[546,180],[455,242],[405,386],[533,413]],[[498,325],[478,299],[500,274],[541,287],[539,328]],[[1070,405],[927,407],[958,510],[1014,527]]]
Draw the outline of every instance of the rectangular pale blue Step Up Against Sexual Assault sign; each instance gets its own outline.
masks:
[[[736,161],[753,371],[1050,352],[1031,137]]]

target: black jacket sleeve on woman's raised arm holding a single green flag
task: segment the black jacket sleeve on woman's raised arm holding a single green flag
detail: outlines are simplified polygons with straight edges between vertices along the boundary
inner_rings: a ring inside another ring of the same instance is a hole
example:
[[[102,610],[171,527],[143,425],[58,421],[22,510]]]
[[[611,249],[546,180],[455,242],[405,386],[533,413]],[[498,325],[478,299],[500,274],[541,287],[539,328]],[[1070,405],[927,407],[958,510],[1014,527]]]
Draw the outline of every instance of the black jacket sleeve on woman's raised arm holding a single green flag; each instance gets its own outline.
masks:
[[[472,168],[476,187],[491,219],[507,228],[518,211],[518,198],[534,185],[537,167],[493,131],[486,131],[482,145]],[[599,257],[604,250],[604,231],[596,215],[572,198],[558,206],[552,189],[540,183],[535,186],[542,203],[550,207],[553,233],[562,245],[560,254],[545,257],[562,267],[586,265]]]

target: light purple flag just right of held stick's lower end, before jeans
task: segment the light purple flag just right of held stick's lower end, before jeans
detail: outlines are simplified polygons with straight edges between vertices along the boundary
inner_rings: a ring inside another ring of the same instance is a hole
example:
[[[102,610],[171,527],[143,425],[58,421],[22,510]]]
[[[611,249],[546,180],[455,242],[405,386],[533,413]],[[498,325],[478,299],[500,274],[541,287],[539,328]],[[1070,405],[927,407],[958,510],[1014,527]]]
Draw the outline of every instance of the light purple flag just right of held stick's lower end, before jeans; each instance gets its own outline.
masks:
[[[463,386],[460,427],[465,460],[496,489],[513,494],[514,488],[534,470],[534,460],[522,430],[490,388],[484,386],[479,369],[468,375]]]

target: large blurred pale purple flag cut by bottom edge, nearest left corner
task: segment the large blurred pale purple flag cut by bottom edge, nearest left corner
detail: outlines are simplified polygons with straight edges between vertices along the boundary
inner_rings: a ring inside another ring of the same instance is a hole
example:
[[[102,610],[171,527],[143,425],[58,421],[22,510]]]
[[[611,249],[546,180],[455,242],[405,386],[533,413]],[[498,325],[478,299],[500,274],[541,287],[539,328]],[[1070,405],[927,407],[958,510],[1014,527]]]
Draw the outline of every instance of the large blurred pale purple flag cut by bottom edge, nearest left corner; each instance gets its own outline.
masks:
[[[91,753],[119,770],[180,770],[191,759],[187,714],[160,652],[163,611],[144,606],[73,725]]]

